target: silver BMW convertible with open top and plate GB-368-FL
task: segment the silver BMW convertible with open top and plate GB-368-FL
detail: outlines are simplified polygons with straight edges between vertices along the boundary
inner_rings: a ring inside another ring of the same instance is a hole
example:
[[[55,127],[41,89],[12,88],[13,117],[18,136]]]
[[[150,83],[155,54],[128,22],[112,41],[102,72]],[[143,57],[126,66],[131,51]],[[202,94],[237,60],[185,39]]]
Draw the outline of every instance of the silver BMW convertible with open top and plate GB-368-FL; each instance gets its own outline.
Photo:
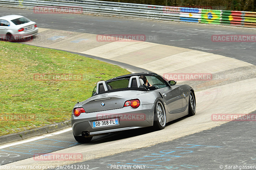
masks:
[[[155,73],[135,73],[100,81],[92,97],[77,102],[71,125],[77,142],[93,136],[154,126],[196,113],[192,87],[176,85]]]

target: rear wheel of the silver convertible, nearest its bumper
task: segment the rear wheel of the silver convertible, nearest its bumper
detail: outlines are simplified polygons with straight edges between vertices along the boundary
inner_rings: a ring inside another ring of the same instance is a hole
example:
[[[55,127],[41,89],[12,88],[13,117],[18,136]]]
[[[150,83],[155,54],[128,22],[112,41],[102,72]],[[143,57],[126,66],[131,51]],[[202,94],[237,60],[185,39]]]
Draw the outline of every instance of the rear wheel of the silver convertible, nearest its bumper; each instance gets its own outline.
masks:
[[[164,105],[160,100],[156,101],[153,126],[156,130],[164,129],[166,126],[166,113]]]

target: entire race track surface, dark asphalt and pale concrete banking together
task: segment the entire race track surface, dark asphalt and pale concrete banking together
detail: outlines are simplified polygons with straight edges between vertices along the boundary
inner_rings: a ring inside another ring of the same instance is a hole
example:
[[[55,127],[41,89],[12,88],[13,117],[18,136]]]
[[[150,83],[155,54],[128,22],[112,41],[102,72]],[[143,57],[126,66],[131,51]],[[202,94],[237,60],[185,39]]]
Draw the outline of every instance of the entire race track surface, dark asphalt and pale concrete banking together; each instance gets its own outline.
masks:
[[[184,73],[182,70],[210,72],[214,77],[211,83],[180,81],[196,90],[196,115],[169,122],[161,131],[135,129],[93,137],[91,143],[80,144],[73,138],[70,128],[63,129],[0,145],[2,169],[7,166],[15,169],[20,165],[91,170],[203,170],[239,169],[239,166],[256,169],[255,120],[226,123],[211,119],[212,114],[256,114],[255,42],[211,41],[215,34],[255,34],[255,29],[82,14],[35,14],[33,10],[3,7],[0,10],[2,16],[19,14],[36,21],[39,35],[26,44],[79,53],[115,63],[132,72],[140,67],[159,74]],[[120,45],[93,41],[97,34],[145,34],[146,42]],[[136,54],[139,63],[124,60]],[[125,64],[120,63],[122,61]],[[166,61],[174,65],[166,65]],[[159,68],[164,64],[165,70]],[[38,153],[52,152],[79,153],[83,159],[59,161],[34,157]],[[73,166],[60,167],[62,165]]]

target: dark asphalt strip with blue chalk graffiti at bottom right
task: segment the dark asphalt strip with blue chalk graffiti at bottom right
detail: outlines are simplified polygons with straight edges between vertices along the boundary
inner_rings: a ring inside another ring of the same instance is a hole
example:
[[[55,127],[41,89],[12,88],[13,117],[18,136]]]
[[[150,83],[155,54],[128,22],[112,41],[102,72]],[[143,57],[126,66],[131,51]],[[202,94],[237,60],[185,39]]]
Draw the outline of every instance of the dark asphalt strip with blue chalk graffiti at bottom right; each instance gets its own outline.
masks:
[[[228,122],[170,142],[72,165],[90,169],[121,169],[126,165],[126,169],[156,170],[241,169],[243,166],[250,169],[254,165],[255,169],[256,155],[252,149],[255,126],[255,122]]]

